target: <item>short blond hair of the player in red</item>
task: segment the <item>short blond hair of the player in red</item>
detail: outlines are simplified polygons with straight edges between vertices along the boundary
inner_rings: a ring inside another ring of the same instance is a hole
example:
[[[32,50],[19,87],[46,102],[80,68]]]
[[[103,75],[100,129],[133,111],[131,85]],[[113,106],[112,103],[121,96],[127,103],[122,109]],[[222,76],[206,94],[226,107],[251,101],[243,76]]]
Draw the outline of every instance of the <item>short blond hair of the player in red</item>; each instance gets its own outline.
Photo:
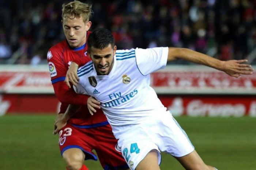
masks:
[[[86,23],[89,21],[91,17],[91,13],[92,13],[91,6],[92,5],[82,3],[76,0],[68,4],[63,4],[62,15],[61,15],[62,19],[66,17],[70,19],[82,17],[83,22]]]

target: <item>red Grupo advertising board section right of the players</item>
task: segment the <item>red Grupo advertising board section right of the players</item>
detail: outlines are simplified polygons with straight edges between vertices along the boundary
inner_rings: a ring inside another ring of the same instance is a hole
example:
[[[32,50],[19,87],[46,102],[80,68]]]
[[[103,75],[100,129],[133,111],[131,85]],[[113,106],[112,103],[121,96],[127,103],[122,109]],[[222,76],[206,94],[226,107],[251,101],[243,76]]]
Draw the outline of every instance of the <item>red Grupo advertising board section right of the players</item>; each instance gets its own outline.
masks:
[[[255,96],[236,95],[158,95],[175,116],[256,116]]]

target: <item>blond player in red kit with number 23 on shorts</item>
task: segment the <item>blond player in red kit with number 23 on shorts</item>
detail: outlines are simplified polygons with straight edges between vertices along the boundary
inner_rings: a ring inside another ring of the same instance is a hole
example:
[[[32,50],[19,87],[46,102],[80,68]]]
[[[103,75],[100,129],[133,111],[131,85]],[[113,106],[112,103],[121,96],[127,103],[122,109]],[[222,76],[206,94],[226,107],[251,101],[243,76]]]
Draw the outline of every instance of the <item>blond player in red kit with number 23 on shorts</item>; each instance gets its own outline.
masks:
[[[85,64],[91,60],[86,53],[86,40],[90,34],[87,31],[91,27],[90,16],[91,5],[80,1],[63,4],[62,25],[66,39],[52,46],[47,54],[54,92],[61,102],[55,125],[65,125],[61,129],[55,129],[54,133],[59,131],[59,147],[67,170],[86,170],[84,160],[97,160],[93,149],[97,152],[103,169],[128,169],[116,147],[117,140],[103,112],[99,109],[97,114],[92,116],[87,108],[88,97],[76,94],[64,83],[72,61],[81,61],[82,58]],[[63,113],[68,104],[83,106],[67,117]]]

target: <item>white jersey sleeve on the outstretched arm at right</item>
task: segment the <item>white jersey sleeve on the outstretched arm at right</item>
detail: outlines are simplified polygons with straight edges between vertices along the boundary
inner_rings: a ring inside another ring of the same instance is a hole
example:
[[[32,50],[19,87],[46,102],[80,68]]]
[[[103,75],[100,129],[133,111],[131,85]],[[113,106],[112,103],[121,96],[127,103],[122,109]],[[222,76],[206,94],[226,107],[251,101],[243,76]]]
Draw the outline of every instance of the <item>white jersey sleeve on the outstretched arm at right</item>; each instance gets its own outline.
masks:
[[[135,49],[136,63],[143,75],[163,69],[167,63],[168,47]]]

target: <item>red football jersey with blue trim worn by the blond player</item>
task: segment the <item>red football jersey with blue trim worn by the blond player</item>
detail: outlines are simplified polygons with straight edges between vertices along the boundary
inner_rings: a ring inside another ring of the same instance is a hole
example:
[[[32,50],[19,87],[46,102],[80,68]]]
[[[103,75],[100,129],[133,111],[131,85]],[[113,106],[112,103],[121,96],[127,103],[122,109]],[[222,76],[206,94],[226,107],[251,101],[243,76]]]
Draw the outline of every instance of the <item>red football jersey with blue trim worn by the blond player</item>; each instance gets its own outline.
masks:
[[[90,32],[87,32],[87,37],[89,34]],[[66,111],[68,104],[83,105],[68,122],[89,128],[108,124],[105,115],[102,110],[97,109],[97,112],[91,116],[87,108],[88,96],[76,94],[73,88],[68,88],[64,83],[68,67],[72,61],[80,60],[84,62],[84,65],[91,60],[87,57],[86,51],[86,44],[79,48],[71,48],[64,40],[49,49],[47,61],[55,95],[61,102],[60,113]]]

